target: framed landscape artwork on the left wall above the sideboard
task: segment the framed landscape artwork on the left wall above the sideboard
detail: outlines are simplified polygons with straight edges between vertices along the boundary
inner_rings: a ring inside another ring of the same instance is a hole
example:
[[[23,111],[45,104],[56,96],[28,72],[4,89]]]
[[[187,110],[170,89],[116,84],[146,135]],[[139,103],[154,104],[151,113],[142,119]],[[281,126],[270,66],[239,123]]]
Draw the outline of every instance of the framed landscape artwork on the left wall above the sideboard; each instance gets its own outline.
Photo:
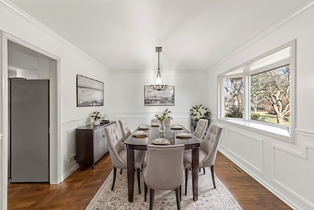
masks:
[[[104,83],[77,74],[77,106],[103,106]]]

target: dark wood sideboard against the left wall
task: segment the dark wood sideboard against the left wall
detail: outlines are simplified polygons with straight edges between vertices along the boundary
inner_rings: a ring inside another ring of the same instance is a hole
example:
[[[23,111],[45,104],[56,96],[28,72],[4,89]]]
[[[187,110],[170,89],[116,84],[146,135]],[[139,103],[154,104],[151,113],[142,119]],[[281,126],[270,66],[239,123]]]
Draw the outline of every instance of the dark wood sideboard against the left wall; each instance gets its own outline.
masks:
[[[94,164],[109,151],[105,126],[116,123],[109,121],[100,125],[85,125],[76,128],[77,163],[81,165]]]

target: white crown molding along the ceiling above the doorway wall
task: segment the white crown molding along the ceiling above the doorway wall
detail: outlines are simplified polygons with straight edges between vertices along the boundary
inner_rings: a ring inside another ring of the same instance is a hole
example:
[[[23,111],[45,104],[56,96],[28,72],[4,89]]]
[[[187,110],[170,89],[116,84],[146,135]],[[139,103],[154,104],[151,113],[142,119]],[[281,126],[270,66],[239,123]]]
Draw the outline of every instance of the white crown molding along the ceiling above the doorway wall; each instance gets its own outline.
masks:
[[[84,57],[86,57],[87,59],[91,60],[92,62],[96,63],[97,65],[99,65],[100,67],[102,67],[103,69],[105,69],[107,72],[111,73],[112,71],[109,70],[107,67],[105,67],[102,63],[100,63],[99,61],[93,59],[91,56],[87,55],[86,53],[84,53],[82,50],[80,50],[78,47],[76,47],[75,45],[73,45],[71,42],[67,41],[65,38],[63,38],[62,36],[60,36],[59,34],[57,34],[56,32],[54,32],[53,30],[49,29],[47,26],[45,26],[44,24],[42,24],[41,22],[39,22],[38,20],[36,20],[35,18],[33,18],[32,16],[30,16],[29,14],[27,14],[25,11],[23,11],[22,9],[20,9],[19,7],[17,7],[15,4],[13,4],[12,2],[8,1],[8,0],[0,0],[0,5],[19,15],[20,17],[22,17],[24,20],[26,20],[28,23],[38,27],[39,29],[49,33],[50,35],[52,35],[53,38],[55,38],[56,40],[66,44],[67,46],[69,46],[70,48],[72,48],[73,50],[77,51],[78,53],[80,53],[81,55],[83,55]]]

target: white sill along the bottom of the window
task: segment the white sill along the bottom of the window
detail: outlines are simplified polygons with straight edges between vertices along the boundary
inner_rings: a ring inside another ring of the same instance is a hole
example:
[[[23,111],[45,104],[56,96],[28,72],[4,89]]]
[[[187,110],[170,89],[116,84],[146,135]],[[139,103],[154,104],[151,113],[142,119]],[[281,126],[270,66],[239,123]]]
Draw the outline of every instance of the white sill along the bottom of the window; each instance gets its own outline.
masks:
[[[287,129],[264,125],[256,122],[238,120],[238,119],[218,119],[219,122],[230,124],[236,127],[240,127],[246,130],[250,130],[256,133],[260,133],[265,136],[269,136],[275,139],[279,139],[285,142],[293,143],[291,134]]]

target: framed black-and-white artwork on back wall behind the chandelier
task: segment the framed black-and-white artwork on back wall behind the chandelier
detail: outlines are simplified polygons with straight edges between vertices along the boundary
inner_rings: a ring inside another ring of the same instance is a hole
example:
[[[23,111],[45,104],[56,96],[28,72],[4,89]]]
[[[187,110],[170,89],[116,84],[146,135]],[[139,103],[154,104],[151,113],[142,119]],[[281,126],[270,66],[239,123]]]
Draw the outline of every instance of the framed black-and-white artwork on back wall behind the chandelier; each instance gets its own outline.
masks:
[[[175,105],[175,87],[168,86],[166,90],[152,90],[150,86],[144,86],[144,105]]]

